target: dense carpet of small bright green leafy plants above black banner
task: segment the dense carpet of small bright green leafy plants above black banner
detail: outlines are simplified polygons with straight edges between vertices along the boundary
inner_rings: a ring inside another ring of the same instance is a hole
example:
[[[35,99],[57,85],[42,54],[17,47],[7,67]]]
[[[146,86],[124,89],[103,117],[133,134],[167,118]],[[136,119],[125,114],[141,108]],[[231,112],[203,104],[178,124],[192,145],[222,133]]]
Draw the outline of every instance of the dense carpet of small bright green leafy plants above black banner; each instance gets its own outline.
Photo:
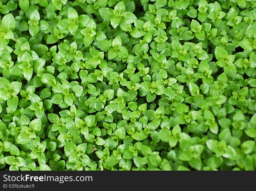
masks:
[[[0,169],[256,168],[254,0],[0,12]]]

